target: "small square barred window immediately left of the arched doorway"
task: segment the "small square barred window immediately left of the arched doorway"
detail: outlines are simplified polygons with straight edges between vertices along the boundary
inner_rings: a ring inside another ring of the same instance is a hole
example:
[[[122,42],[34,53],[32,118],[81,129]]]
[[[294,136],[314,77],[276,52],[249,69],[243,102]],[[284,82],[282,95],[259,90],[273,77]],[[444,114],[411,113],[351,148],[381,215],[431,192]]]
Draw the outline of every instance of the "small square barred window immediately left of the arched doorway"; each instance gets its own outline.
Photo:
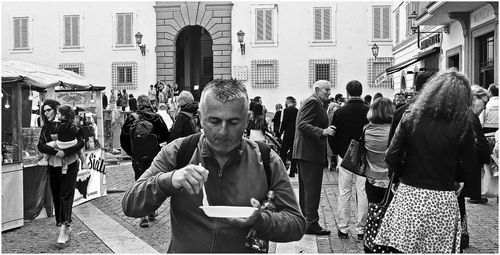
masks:
[[[137,63],[134,61],[113,62],[111,64],[113,89],[137,88]]]

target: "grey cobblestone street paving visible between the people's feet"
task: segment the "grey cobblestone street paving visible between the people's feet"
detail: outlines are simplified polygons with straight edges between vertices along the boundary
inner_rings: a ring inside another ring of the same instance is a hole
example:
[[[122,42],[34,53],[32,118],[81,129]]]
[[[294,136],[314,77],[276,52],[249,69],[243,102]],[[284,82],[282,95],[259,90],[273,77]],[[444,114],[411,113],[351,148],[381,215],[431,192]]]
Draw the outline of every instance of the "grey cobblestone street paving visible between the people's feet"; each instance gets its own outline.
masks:
[[[157,220],[150,222],[149,228],[140,228],[139,219],[127,217],[121,210],[123,191],[133,183],[134,178],[130,162],[107,166],[106,178],[108,195],[89,203],[159,253],[166,253],[170,233],[168,200],[158,210]],[[294,189],[298,189],[297,178],[290,180]],[[352,234],[356,233],[354,226],[351,228],[350,238],[340,239],[336,235],[337,195],[337,175],[334,172],[325,171],[320,204],[320,224],[331,230],[332,234],[330,236],[312,236],[311,239],[317,246],[318,253],[363,253],[362,241],[357,240]],[[466,204],[471,247],[466,249],[465,253],[498,253],[497,199],[490,199],[485,205]],[[75,207],[74,211],[84,205]],[[351,205],[354,210],[354,202]],[[103,224],[105,223],[103,222]],[[73,215],[72,227],[71,241],[65,245],[57,245],[55,241],[58,231],[54,218],[25,222],[21,228],[2,233],[2,253],[115,253],[103,241],[102,236],[96,235],[86,226],[86,222],[75,215]],[[270,253],[282,250],[282,247],[277,249],[277,246],[290,245],[292,244],[271,244]],[[287,253],[301,253],[306,248],[310,247],[294,247],[293,251],[283,249],[287,250]]]

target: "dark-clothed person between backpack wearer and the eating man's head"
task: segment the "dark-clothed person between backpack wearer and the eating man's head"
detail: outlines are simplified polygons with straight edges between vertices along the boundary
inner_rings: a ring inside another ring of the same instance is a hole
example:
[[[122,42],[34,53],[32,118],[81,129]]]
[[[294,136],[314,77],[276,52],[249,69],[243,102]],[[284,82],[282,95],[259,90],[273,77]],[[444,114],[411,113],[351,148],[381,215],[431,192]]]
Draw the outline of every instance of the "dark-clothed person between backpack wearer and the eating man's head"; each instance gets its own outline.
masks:
[[[179,94],[179,113],[175,117],[174,125],[170,132],[169,142],[195,134],[198,128],[198,103],[194,101],[193,94],[187,90]]]

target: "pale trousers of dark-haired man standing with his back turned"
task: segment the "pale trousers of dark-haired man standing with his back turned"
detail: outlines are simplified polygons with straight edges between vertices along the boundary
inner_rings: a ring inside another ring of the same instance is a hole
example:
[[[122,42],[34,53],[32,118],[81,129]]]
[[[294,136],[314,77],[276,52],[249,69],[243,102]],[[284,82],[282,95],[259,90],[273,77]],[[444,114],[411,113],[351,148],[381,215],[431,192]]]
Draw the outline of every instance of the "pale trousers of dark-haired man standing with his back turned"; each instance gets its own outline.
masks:
[[[342,158],[339,157],[339,161]],[[366,197],[365,182],[366,178],[355,175],[339,164],[339,222],[338,229],[342,233],[349,232],[349,221],[351,219],[351,194],[355,182],[355,201],[356,201],[356,232],[364,234],[366,225],[366,216],[368,214],[368,199]]]

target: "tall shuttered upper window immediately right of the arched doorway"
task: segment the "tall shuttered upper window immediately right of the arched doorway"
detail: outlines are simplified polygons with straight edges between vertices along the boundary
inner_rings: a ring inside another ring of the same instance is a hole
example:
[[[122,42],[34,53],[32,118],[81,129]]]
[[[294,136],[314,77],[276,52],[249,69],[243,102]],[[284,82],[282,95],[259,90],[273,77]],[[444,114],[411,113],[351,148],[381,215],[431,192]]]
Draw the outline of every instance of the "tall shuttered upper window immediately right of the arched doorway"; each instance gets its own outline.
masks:
[[[277,4],[260,4],[251,6],[253,17],[252,40],[255,46],[276,46],[277,45]]]

